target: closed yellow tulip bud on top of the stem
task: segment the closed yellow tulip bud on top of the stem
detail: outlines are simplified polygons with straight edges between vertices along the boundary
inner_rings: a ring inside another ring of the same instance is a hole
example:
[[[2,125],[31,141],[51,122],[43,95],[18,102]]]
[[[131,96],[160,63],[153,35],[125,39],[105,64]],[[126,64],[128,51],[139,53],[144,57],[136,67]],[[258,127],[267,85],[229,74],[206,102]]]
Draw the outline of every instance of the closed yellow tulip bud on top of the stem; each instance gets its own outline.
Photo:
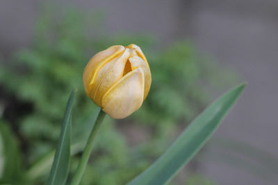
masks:
[[[112,118],[125,118],[142,105],[152,76],[139,46],[111,46],[94,55],[83,73],[86,94]]]

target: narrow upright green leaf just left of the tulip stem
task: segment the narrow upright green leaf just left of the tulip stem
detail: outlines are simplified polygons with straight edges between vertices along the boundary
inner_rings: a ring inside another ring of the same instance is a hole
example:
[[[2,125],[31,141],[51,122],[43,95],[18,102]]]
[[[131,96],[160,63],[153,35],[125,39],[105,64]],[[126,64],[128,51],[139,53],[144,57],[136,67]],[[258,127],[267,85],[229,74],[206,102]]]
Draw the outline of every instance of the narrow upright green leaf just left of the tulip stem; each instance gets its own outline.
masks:
[[[70,167],[70,138],[72,130],[72,105],[74,101],[74,94],[76,89],[70,94],[67,100],[67,107],[63,118],[63,125],[60,132],[60,139],[56,148],[54,163],[51,167],[50,176],[47,184],[62,185],[67,180],[67,174]]]

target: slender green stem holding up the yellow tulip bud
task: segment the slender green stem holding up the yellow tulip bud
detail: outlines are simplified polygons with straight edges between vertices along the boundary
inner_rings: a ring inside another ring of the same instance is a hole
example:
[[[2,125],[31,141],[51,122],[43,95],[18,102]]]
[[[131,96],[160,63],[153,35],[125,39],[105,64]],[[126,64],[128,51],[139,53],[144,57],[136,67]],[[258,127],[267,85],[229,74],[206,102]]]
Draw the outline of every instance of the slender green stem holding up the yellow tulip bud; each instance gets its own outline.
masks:
[[[88,141],[86,143],[83,155],[79,161],[79,166],[77,166],[76,172],[72,179],[72,185],[78,185],[81,181],[81,178],[83,176],[83,173],[85,171],[86,165],[87,165],[89,157],[90,157],[90,153],[92,151],[92,146],[93,146],[93,143],[95,140],[95,136],[97,135],[97,132],[99,131],[99,127],[101,126],[101,123],[104,120],[105,115],[106,115],[105,112],[100,110],[99,116],[97,116],[97,120],[95,121],[95,125],[92,127],[92,131],[91,131]]]

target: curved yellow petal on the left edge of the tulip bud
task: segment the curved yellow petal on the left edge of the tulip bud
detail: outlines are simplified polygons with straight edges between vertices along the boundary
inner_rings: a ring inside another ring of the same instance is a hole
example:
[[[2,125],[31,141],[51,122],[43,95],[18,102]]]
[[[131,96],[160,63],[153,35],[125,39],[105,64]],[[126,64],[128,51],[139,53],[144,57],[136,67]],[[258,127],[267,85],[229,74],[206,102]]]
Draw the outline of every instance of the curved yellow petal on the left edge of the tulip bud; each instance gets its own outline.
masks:
[[[99,68],[123,51],[124,46],[111,46],[104,51],[100,51],[90,59],[83,73],[83,84],[86,94],[90,94],[91,85]]]

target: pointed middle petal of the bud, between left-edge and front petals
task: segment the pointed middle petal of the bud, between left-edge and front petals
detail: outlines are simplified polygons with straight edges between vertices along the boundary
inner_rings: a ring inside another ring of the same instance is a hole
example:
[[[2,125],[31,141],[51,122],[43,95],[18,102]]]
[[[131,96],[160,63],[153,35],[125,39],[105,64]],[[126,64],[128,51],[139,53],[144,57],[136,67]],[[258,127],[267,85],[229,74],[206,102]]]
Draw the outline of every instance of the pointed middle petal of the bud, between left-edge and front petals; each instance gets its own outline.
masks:
[[[122,78],[128,58],[129,49],[126,49],[122,55],[118,55],[113,60],[104,64],[97,72],[91,89],[91,97],[97,105],[101,106],[102,96]]]

